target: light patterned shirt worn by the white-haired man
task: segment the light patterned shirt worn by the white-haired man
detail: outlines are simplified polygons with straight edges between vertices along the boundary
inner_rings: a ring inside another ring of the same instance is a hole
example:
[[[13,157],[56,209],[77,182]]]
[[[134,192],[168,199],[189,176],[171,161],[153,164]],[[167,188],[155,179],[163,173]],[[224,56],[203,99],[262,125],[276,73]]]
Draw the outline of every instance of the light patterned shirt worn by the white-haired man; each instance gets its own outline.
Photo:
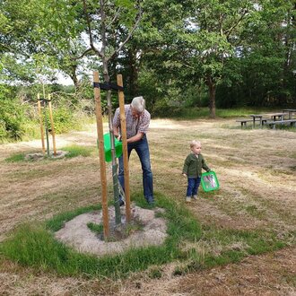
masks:
[[[131,105],[125,105],[125,113],[126,113],[126,137],[129,139],[130,137],[136,135],[137,133],[148,132],[149,124],[150,124],[150,113],[144,109],[144,112],[140,115],[139,118],[134,118],[132,114]],[[120,130],[120,111],[119,108],[116,109],[114,118],[113,118],[113,126],[118,127]]]

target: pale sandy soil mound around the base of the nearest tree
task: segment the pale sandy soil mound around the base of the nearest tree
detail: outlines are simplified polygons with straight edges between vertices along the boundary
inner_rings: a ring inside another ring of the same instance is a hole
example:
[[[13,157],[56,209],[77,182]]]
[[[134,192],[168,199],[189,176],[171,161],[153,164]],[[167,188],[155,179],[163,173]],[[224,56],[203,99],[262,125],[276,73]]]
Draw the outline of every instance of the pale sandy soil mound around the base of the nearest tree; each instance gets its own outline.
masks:
[[[155,217],[155,213],[162,211],[160,208],[149,210],[132,205],[132,219],[127,224],[125,208],[122,207],[121,225],[116,226],[115,210],[112,206],[109,207],[109,239],[103,239],[101,233],[91,231],[88,227],[88,223],[102,223],[101,211],[76,216],[66,222],[55,236],[79,252],[98,256],[122,253],[129,248],[161,245],[167,237],[167,226],[163,218]]]

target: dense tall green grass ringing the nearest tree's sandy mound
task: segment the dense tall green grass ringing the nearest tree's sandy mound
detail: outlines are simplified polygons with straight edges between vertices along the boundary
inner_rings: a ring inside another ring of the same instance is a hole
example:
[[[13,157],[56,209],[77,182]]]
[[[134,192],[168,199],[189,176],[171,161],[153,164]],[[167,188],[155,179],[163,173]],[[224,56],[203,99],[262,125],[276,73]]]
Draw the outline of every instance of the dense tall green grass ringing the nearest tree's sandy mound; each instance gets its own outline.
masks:
[[[130,272],[144,270],[151,265],[161,265],[182,258],[183,255],[178,248],[180,239],[197,239],[201,235],[201,229],[184,207],[176,207],[163,196],[159,195],[157,198],[160,205],[167,206],[164,216],[169,219],[170,235],[162,246],[130,249],[122,255],[98,258],[80,254],[54,239],[53,231],[60,229],[74,215],[97,209],[89,207],[71,213],[61,213],[39,226],[26,224],[20,227],[11,239],[4,241],[0,252],[22,265],[55,270],[58,274],[111,277],[124,277]]]

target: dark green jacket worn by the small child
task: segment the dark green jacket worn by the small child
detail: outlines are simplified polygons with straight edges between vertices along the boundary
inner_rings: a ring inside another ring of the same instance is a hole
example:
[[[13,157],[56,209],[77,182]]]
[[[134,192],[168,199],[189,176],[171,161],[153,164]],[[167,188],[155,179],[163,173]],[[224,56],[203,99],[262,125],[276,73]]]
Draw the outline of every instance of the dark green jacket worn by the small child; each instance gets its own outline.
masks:
[[[183,174],[187,174],[188,178],[200,178],[202,177],[202,169],[211,170],[206,165],[204,156],[199,154],[197,158],[196,154],[190,153],[184,162]]]

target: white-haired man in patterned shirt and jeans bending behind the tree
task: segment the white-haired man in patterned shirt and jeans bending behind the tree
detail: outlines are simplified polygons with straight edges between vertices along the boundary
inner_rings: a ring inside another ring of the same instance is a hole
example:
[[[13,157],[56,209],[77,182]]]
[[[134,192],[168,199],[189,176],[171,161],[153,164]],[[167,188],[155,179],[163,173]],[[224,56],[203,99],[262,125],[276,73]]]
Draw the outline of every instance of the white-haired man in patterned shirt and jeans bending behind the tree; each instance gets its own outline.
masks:
[[[149,205],[153,205],[153,178],[150,163],[150,152],[146,134],[150,124],[150,113],[145,109],[143,97],[135,97],[131,104],[125,105],[126,138],[128,159],[133,149],[138,154],[143,171],[144,197]],[[113,118],[114,135],[120,137],[120,112],[116,109]],[[119,158],[118,180],[125,189],[123,156]],[[124,205],[121,200],[120,205]]]

